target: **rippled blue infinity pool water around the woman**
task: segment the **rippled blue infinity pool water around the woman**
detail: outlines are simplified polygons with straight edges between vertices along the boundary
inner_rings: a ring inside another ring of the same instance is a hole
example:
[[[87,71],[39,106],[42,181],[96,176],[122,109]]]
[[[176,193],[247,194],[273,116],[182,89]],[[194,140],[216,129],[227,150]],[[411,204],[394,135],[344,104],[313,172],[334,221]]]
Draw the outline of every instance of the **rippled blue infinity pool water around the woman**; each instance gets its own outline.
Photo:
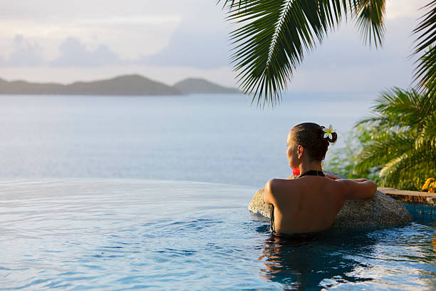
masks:
[[[0,181],[0,290],[435,290],[432,220],[276,238],[257,189],[134,179]]]

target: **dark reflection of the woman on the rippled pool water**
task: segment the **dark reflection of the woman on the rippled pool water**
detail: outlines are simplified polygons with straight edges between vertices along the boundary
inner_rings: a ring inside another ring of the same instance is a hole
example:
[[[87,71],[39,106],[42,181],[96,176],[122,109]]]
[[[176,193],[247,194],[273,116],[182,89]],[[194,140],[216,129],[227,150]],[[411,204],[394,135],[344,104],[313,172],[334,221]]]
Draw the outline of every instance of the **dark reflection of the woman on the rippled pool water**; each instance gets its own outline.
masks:
[[[259,257],[259,260],[265,258],[261,276],[298,290],[373,280],[352,274],[356,267],[368,269],[371,266],[353,260],[351,255],[370,255],[376,241],[358,234],[351,238],[352,241],[350,235],[324,233],[301,238],[271,235],[265,240],[263,254]]]

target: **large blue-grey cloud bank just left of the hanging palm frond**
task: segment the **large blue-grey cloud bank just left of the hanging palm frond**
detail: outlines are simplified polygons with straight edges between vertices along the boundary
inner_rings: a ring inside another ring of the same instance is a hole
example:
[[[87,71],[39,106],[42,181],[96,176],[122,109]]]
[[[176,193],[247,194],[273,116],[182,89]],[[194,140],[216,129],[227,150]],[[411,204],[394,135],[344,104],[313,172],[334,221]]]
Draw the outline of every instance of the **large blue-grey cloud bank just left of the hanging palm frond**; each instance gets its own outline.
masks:
[[[227,32],[224,29],[204,29],[196,21],[184,21],[162,51],[142,56],[135,63],[149,66],[185,66],[190,68],[220,68],[229,65]]]

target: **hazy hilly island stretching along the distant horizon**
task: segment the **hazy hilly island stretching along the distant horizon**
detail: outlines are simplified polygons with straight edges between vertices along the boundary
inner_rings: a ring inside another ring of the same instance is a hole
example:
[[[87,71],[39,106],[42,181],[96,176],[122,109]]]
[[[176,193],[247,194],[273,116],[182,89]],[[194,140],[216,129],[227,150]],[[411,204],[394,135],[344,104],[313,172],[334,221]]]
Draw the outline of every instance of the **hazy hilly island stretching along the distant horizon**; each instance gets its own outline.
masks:
[[[187,78],[168,86],[140,75],[125,75],[115,78],[60,83],[31,83],[27,81],[6,81],[0,78],[0,94],[34,95],[185,95],[194,93],[240,93],[235,88],[227,88],[202,78]]]

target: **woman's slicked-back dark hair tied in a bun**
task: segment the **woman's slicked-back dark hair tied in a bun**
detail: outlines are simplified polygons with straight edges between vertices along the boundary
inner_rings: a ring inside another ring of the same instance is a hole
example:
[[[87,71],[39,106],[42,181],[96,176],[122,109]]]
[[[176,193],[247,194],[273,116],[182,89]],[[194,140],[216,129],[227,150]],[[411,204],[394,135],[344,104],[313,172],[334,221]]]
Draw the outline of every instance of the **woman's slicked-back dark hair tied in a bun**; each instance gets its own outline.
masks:
[[[309,157],[313,160],[323,160],[326,158],[328,145],[335,143],[338,139],[336,133],[331,133],[331,137],[324,138],[324,126],[319,126],[316,123],[300,123],[291,129],[294,141],[303,146]]]

